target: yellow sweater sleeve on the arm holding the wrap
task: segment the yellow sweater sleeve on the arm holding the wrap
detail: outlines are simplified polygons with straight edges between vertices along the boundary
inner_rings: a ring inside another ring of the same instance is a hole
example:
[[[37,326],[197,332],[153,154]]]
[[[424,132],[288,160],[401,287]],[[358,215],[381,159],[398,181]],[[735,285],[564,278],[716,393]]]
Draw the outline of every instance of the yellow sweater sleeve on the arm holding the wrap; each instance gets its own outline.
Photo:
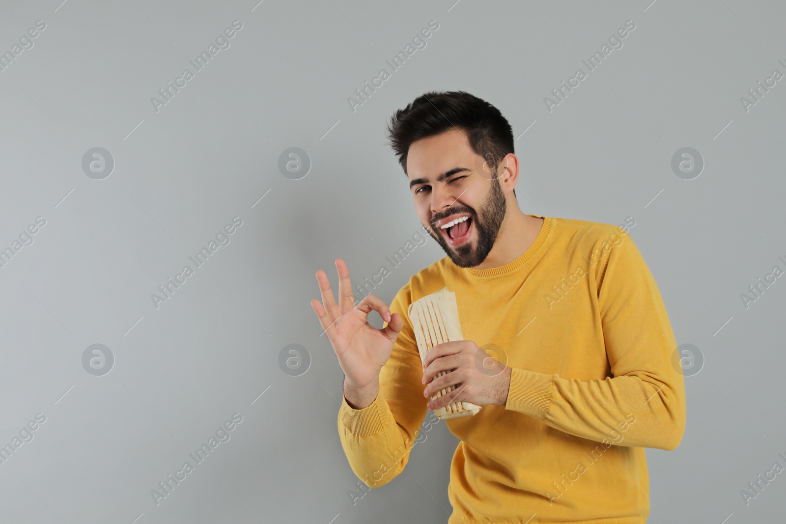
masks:
[[[685,432],[685,382],[672,362],[677,343],[644,258],[630,236],[618,238],[596,274],[612,376],[578,380],[512,368],[505,409],[596,442],[676,449]]]

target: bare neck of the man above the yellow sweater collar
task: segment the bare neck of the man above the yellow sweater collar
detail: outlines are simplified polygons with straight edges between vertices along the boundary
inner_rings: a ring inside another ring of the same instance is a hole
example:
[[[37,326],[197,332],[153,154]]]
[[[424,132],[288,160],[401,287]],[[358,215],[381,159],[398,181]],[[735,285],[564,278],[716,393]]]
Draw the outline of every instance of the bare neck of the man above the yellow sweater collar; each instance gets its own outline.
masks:
[[[494,247],[491,247],[486,259],[474,269],[490,269],[513,262],[538,238],[542,225],[542,218],[523,214],[516,200],[510,199],[508,213],[502,220],[497,239],[494,240]]]

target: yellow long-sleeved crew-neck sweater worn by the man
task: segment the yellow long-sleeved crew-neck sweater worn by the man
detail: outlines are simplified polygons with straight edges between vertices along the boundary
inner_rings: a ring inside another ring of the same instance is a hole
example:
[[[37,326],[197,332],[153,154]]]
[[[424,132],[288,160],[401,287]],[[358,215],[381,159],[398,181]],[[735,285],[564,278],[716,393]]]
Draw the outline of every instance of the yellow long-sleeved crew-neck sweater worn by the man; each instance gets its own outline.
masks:
[[[645,448],[679,445],[685,384],[630,225],[545,217],[531,247],[505,266],[460,268],[445,257],[411,277],[391,302],[404,325],[380,372],[380,394],[365,409],[346,398],[340,408],[355,475],[379,487],[409,459],[428,399],[406,311],[447,287],[465,339],[494,344],[487,347],[512,368],[504,406],[446,420],[461,440],[450,466],[449,524],[645,524]]]

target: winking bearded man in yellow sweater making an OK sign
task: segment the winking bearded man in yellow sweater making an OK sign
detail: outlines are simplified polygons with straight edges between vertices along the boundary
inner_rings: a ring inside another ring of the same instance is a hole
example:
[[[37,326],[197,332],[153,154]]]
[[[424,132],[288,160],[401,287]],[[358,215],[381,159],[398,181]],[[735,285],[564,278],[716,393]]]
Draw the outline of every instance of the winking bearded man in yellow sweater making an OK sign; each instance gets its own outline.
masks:
[[[685,386],[663,299],[627,234],[635,221],[523,214],[512,129],[468,93],[426,93],[388,132],[417,216],[447,256],[390,308],[373,295],[354,307],[341,259],[338,304],[317,272],[322,302],[311,305],[344,372],[338,430],[352,471],[367,486],[390,482],[427,410],[469,401],[483,408],[446,421],[461,440],[450,524],[645,524],[645,448],[679,445]],[[422,365],[406,311],[445,287],[465,340],[435,346]],[[366,322],[372,310],[384,328]]]

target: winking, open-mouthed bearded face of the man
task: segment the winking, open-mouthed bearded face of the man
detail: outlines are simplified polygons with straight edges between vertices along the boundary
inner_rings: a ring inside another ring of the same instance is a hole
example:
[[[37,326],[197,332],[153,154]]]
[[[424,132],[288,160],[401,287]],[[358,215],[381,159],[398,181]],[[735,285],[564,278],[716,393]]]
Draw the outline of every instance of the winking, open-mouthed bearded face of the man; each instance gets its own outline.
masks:
[[[410,145],[406,171],[417,216],[456,266],[482,263],[505,218],[505,193],[497,180],[501,170],[492,167],[472,151],[464,130]],[[441,227],[456,218],[464,222]]]

